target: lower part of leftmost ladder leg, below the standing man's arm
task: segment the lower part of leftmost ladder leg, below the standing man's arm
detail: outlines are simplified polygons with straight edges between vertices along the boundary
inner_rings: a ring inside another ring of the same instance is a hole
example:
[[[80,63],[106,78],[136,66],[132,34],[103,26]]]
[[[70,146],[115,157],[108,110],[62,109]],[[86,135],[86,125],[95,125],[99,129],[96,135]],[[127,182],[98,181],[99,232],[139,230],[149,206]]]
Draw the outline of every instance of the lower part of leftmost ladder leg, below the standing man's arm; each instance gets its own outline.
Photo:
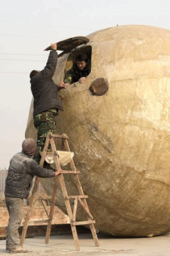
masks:
[[[32,195],[30,197],[29,209],[28,209],[28,212],[25,216],[25,221],[24,221],[24,225],[23,225],[23,229],[22,229],[22,234],[21,234],[21,239],[20,239],[20,246],[21,247],[23,247],[23,244],[24,244],[24,241],[25,241],[25,236],[26,236],[26,233],[27,233],[30,214],[31,214],[31,211],[32,211],[32,208],[33,208],[33,201],[34,201],[35,195],[37,193],[38,184],[39,184],[39,178],[36,178],[35,184],[34,184],[33,190],[32,190]]]

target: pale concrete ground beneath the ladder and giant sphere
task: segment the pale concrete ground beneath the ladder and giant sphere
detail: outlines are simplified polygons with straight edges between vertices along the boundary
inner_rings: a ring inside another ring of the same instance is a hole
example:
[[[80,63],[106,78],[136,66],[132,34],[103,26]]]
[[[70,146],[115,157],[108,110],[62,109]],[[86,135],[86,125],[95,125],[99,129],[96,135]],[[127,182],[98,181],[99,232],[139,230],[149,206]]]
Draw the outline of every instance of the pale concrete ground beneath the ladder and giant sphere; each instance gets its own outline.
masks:
[[[115,238],[98,234],[100,247],[96,247],[91,233],[79,234],[80,251],[75,250],[72,235],[51,236],[49,244],[45,237],[26,238],[24,247],[29,253],[15,255],[39,256],[169,256],[170,233],[150,238]],[[0,241],[0,255],[6,256],[5,240]]]

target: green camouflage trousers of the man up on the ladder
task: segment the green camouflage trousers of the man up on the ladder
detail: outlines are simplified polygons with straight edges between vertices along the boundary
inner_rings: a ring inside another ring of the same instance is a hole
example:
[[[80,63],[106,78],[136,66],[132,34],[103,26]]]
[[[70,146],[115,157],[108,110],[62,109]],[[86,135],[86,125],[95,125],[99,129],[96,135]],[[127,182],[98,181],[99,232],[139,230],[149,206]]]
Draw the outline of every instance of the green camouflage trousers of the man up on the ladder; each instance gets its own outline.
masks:
[[[46,136],[48,132],[54,133],[56,125],[57,113],[52,111],[44,111],[38,114],[33,120],[33,124],[37,129],[37,151],[33,159],[39,164],[41,156],[40,151],[43,150]],[[50,146],[48,147],[50,151]]]

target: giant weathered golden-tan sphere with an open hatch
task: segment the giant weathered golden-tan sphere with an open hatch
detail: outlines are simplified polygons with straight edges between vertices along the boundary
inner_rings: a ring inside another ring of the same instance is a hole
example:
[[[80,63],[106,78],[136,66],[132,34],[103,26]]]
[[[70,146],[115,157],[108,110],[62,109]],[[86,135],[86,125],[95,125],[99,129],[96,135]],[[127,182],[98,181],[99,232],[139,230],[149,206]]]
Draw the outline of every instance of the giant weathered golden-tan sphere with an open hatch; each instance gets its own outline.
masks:
[[[101,233],[141,237],[169,232],[170,31],[128,25],[87,37],[91,73],[83,84],[60,91],[64,112],[57,116],[56,133],[69,136]],[[58,59],[56,84],[64,77],[68,57]],[[104,95],[89,90],[97,78],[108,81]],[[36,138],[32,105],[28,137]],[[43,180],[48,194],[53,182]],[[77,194],[70,176],[66,183],[69,193]],[[61,189],[57,203],[64,205]]]

